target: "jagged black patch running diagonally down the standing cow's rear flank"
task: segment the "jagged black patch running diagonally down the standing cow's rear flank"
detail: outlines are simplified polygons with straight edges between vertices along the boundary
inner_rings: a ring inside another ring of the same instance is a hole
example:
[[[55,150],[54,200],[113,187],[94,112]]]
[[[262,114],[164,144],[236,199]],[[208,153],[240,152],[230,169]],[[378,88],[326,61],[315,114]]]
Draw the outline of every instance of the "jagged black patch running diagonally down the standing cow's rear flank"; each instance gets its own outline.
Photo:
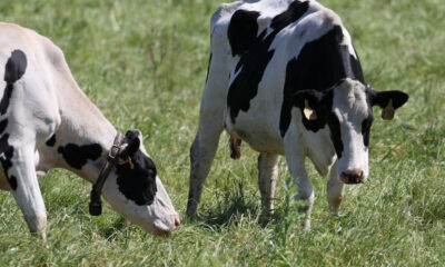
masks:
[[[231,55],[240,57],[235,71],[241,68],[231,82],[227,96],[227,106],[230,107],[230,118],[234,123],[239,110],[247,111],[250,99],[257,95],[258,83],[275,52],[269,50],[275,37],[288,24],[297,21],[308,7],[308,2],[290,3],[286,11],[271,20],[270,28],[274,30],[267,37],[267,29],[257,37],[259,12],[237,10],[233,14],[227,36]]]

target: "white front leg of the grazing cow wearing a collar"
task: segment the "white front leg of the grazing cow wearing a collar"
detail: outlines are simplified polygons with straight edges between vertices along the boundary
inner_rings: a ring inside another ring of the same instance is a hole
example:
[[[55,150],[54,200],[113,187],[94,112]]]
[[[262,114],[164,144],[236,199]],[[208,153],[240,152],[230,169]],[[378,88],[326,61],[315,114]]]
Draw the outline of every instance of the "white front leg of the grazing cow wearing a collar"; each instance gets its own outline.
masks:
[[[1,162],[29,230],[46,241],[47,211],[36,175],[33,146],[8,145]]]

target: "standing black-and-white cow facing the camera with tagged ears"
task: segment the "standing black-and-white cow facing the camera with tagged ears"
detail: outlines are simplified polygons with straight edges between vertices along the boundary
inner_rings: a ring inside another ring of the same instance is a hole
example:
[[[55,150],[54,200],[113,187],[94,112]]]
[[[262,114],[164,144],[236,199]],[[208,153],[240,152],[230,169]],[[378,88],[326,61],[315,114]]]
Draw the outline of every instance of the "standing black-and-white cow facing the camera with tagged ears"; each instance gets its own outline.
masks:
[[[224,129],[233,158],[240,140],[259,151],[259,189],[271,211],[284,155],[298,186],[296,199],[314,190],[305,170],[309,157],[326,176],[330,210],[337,211],[345,184],[368,176],[373,106],[384,119],[408,96],[376,91],[364,80],[349,33],[339,17],[316,1],[246,0],[224,3],[211,18],[210,62],[198,134],[190,149],[187,215],[197,211],[202,184]],[[305,220],[309,227],[309,216]]]

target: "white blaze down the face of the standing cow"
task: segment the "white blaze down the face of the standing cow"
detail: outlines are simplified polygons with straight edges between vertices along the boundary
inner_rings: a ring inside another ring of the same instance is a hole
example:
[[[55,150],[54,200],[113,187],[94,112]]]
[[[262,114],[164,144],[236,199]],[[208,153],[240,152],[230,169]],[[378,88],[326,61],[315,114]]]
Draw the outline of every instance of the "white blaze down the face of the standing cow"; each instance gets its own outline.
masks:
[[[364,171],[368,176],[368,148],[364,145],[362,122],[368,118],[365,86],[347,78],[334,89],[333,111],[340,122],[342,158],[338,159],[338,175],[349,169]]]

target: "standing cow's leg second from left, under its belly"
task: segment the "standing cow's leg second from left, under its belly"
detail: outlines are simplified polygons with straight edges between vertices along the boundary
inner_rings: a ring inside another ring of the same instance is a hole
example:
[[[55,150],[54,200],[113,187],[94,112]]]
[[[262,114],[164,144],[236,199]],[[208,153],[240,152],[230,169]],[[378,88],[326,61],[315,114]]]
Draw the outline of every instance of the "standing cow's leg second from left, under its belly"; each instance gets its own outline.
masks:
[[[278,177],[278,155],[261,152],[258,157],[258,185],[266,215],[274,214],[275,185]]]

